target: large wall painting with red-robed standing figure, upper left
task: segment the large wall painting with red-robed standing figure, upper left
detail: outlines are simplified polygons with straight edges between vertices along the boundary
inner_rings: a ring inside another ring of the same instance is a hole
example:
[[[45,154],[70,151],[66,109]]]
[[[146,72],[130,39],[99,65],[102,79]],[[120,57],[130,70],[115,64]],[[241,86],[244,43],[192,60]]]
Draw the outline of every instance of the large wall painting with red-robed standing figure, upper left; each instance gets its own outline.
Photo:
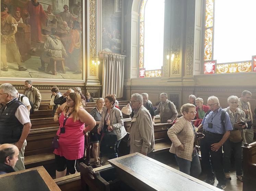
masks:
[[[81,0],[1,0],[0,77],[82,79]]]

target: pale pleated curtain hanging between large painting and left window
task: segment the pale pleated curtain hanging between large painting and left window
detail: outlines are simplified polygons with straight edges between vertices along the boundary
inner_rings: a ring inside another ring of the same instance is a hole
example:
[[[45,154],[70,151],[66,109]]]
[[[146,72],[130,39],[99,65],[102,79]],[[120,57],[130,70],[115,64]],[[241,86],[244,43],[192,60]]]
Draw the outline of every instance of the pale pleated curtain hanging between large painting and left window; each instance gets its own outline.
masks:
[[[104,54],[102,98],[108,94],[123,97],[124,56]]]

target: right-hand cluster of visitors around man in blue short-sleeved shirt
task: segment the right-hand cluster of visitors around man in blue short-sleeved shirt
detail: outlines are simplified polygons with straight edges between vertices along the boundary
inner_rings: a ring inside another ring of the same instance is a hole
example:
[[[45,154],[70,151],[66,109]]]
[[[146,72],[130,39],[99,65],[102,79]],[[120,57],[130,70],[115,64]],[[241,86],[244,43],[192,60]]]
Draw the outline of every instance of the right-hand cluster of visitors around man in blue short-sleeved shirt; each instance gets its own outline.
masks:
[[[183,116],[168,130],[172,141],[170,152],[175,154],[180,171],[194,177],[200,175],[201,165],[194,144],[200,139],[202,166],[207,174],[205,182],[214,184],[216,176],[217,188],[226,188],[226,179],[231,179],[232,151],[236,177],[243,181],[241,146],[253,142],[251,97],[252,93],[247,90],[241,98],[231,95],[227,100],[229,106],[222,109],[215,96],[210,96],[207,105],[203,105],[202,98],[190,95],[189,103],[181,107]],[[193,119],[196,119],[195,125]]]

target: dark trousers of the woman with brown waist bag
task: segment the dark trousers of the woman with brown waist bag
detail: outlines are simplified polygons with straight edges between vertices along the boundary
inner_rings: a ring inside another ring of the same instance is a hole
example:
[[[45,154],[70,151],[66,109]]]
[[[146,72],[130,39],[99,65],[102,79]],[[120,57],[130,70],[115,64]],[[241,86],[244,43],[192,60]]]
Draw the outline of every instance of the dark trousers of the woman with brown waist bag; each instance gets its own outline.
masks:
[[[236,175],[240,176],[243,174],[242,170],[242,142],[233,143],[227,139],[227,141],[223,145],[223,163],[224,163],[224,172],[228,173],[230,171],[230,158],[231,151],[233,149],[234,157],[235,157],[235,170]]]

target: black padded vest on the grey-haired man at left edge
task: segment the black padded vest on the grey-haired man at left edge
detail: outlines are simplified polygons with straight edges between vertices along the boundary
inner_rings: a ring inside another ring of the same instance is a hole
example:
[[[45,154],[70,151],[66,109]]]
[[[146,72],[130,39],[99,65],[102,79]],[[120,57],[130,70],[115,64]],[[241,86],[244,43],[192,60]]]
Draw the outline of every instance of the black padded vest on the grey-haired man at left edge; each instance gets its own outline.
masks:
[[[24,105],[17,98],[0,109],[0,144],[15,143],[19,141],[23,124],[15,117],[15,112],[20,105]]]

